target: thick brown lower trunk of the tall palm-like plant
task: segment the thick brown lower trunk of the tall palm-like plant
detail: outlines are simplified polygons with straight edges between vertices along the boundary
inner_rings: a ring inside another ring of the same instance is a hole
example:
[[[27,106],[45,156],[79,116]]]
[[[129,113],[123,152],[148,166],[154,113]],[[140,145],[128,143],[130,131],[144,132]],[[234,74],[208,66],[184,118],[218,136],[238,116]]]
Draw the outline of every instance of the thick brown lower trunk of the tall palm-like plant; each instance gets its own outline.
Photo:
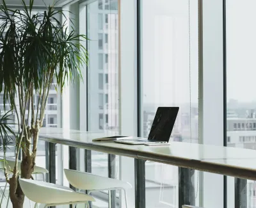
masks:
[[[24,150],[20,149],[20,151]],[[20,176],[15,177],[15,175],[13,175],[10,179],[10,200],[12,201],[13,208],[23,208],[25,195],[20,188],[19,177],[22,179],[31,179],[32,173],[34,172],[34,166],[35,155],[26,154],[26,156],[22,158],[20,164],[21,173],[18,174]]]

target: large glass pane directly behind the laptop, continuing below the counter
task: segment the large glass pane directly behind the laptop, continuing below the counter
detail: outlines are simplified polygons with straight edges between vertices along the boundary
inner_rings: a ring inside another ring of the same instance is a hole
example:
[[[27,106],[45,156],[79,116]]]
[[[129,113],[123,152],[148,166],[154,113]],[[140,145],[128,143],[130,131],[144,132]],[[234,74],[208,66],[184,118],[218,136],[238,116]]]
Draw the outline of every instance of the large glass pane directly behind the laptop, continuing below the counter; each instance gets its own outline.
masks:
[[[190,22],[188,11],[188,1],[141,1],[141,136],[145,138],[157,107],[179,106],[170,141],[198,142],[198,2],[191,1]],[[146,207],[178,207],[178,176],[176,166],[147,162]]]

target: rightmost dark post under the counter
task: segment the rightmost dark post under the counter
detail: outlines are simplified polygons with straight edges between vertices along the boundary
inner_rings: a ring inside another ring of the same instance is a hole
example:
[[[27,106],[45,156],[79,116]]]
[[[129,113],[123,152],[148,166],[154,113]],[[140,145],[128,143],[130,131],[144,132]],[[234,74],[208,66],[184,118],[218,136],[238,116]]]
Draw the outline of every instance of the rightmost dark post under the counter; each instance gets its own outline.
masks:
[[[247,208],[247,180],[235,179],[235,208]]]

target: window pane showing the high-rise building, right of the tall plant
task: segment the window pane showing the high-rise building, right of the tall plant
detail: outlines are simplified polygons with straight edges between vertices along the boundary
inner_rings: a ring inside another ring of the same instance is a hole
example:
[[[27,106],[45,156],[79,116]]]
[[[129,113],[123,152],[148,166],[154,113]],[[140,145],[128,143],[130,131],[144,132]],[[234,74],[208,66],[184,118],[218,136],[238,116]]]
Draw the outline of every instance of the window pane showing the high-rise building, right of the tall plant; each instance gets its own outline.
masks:
[[[110,10],[108,5],[108,1],[98,0],[90,4],[82,3],[79,6],[79,31],[90,39],[87,42],[90,61],[87,69],[84,70],[87,70],[88,87],[87,131],[92,132],[118,132],[119,129],[119,122],[116,120],[118,117],[118,47],[116,47],[118,39],[115,36],[118,28],[110,27],[113,22],[118,21],[118,11],[117,8]],[[86,24],[83,24],[85,21],[87,21],[87,28]],[[116,169],[118,169],[118,161],[119,157],[116,156]],[[108,177],[108,154],[92,151],[92,173]],[[118,178],[117,170],[116,178]],[[104,203],[93,205],[107,207],[107,193],[97,195],[97,198]]]

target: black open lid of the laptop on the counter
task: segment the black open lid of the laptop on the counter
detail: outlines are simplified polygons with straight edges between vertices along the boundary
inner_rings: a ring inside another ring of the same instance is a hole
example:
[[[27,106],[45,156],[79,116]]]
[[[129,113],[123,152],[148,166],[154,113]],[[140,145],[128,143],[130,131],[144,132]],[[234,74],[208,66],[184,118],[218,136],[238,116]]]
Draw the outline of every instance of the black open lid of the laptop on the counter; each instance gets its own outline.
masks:
[[[148,140],[169,141],[179,107],[159,107],[156,111]]]

